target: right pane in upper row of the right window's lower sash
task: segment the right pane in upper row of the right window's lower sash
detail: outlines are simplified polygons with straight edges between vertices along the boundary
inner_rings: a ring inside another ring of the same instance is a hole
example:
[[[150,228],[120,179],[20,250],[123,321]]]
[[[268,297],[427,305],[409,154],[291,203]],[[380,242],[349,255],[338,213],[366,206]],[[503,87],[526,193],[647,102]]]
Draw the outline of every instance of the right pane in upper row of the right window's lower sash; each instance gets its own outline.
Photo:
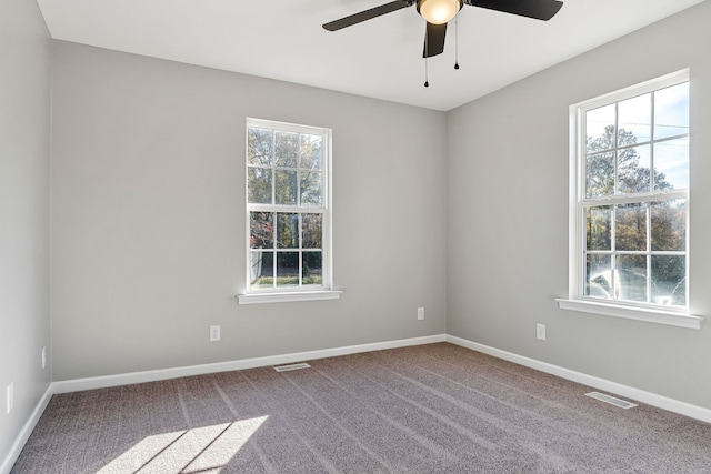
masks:
[[[687,201],[652,203],[652,251],[687,249]]]

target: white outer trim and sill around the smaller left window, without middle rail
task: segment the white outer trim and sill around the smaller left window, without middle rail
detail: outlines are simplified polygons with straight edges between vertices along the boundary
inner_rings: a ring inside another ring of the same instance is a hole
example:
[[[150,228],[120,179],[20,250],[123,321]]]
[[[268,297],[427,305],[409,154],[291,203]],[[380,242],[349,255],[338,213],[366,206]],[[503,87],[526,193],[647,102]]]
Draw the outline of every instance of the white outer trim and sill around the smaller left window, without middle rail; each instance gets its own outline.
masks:
[[[291,132],[313,132],[318,134],[323,134],[323,150],[324,157],[322,161],[322,172],[323,172],[323,198],[326,201],[326,205],[321,208],[323,210],[323,220],[327,223],[324,225],[324,233],[322,235],[322,279],[323,284],[318,286],[306,285],[299,288],[283,288],[283,289],[267,289],[267,290],[250,290],[249,289],[249,274],[250,274],[250,259],[249,259],[249,246],[246,244],[247,253],[246,253],[246,262],[244,262],[244,291],[237,295],[237,300],[239,304],[261,304],[261,303],[284,303],[284,302],[298,302],[298,301],[319,301],[319,300],[338,300],[341,296],[341,291],[333,290],[333,251],[332,251],[332,239],[333,239],[333,226],[332,226],[332,194],[331,194],[331,129],[323,127],[312,127],[312,125],[302,125],[296,123],[288,122],[279,122],[274,120],[263,120],[263,119],[253,119],[247,118],[246,121],[246,132],[250,128],[268,128],[268,129],[277,129],[279,131],[291,131]],[[323,133],[326,132],[326,133]],[[249,143],[244,143],[244,202],[247,204],[249,196],[249,188],[247,183],[247,170],[249,164],[247,162],[247,153],[248,153]],[[249,225],[249,209],[246,205],[246,242],[249,242],[250,238],[250,225]],[[303,212],[307,208],[294,208],[294,212]]]

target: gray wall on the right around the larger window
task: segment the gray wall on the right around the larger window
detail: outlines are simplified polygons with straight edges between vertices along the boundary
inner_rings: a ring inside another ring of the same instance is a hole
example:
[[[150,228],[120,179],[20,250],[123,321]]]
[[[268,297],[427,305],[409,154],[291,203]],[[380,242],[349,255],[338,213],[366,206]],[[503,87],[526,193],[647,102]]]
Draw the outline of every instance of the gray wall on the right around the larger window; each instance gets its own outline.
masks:
[[[707,1],[449,113],[449,334],[711,409],[709,322],[677,329],[554,302],[568,295],[569,105],[689,67],[689,294],[711,316],[710,21]]]

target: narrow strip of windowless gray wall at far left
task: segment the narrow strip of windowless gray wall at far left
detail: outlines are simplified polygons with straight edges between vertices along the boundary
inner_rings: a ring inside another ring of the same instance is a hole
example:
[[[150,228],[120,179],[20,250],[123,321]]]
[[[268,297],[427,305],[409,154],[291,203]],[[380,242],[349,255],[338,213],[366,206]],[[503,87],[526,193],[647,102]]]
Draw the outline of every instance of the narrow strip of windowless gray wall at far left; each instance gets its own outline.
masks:
[[[34,1],[0,2],[0,463],[51,379],[50,40]],[[49,361],[48,361],[49,362]],[[6,413],[6,387],[14,410]]]

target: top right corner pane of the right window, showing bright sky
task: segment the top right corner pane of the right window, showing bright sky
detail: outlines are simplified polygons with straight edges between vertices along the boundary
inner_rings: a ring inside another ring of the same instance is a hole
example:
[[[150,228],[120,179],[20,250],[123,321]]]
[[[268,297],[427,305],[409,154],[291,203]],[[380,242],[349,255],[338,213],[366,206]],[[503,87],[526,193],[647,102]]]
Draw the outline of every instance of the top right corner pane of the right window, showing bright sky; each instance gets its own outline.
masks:
[[[689,133],[689,82],[654,92],[654,139]]]

